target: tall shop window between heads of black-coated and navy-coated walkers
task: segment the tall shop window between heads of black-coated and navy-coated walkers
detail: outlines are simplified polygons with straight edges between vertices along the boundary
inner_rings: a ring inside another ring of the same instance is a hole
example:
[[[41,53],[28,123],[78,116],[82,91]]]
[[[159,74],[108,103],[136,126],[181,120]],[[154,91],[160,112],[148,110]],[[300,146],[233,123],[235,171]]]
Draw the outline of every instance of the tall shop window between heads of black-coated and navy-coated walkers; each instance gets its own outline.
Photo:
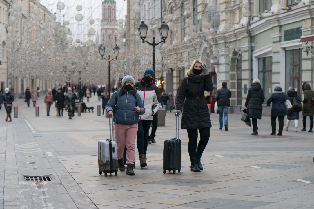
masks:
[[[273,57],[258,58],[258,79],[264,91],[265,100],[272,94],[272,71],[273,71]]]

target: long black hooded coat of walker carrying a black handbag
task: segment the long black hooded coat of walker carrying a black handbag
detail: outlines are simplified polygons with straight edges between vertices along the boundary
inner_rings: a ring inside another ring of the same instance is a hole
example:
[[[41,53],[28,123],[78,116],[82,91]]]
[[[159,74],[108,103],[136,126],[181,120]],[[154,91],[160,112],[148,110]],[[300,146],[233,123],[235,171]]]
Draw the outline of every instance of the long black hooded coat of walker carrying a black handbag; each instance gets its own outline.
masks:
[[[249,109],[250,118],[262,119],[262,104],[265,100],[264,91],[259,83],[253,83],[249,91],[244,106]]]

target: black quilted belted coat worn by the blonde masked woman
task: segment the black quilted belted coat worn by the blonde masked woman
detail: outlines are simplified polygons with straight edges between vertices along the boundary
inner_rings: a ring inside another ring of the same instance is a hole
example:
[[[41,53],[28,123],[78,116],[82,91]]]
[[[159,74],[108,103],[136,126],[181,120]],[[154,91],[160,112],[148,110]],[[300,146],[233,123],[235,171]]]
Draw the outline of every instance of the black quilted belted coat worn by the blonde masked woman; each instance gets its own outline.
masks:
[[[176,110],[182,111],[181,128],[210,128],[210,115],[204,99],[204,91],[213,91],[211,75],[188,75],[183,78],[176,101]],[[187,99],[184,101],[185,97]]]

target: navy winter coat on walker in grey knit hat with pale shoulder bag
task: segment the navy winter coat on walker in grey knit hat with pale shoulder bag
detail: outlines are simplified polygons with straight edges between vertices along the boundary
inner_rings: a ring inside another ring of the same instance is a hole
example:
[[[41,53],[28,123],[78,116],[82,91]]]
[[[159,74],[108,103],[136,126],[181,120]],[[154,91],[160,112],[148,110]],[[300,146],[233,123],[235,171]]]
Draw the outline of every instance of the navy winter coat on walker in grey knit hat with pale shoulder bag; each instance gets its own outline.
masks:
[[[282,91],[282,88],[276,88],[274,91]],[[287,108],[284,104],[286,93],[272,93],[267,100],[267,105],[270,106],[270,103],[273,102],[272,110],[270,111],[271,117],[278,117],[287,115]]]

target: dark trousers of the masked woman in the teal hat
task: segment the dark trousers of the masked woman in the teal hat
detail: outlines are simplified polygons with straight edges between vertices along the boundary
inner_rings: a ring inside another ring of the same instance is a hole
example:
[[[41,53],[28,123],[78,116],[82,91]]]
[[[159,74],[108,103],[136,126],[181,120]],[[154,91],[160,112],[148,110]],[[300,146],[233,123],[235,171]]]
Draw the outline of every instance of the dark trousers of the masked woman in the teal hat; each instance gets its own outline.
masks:
[[[147,138],[149,133],[149,127],[152,123],[151,120],[139,120],[138,122],[138,133],[136,144],[138,147],[138,154],[146,154],[147,151]]]

